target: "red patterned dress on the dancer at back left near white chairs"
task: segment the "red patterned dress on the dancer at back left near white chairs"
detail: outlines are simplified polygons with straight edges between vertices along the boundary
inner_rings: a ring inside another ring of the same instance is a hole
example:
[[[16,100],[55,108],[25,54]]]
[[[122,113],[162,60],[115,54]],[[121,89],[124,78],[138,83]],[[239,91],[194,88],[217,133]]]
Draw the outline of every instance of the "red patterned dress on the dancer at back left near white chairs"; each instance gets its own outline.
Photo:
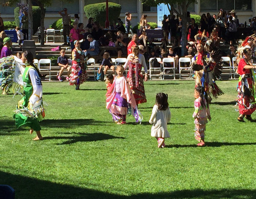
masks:
[[[69,85],[80,85],[87,79],[86,66],[84,63],[84,52],[74,48],[72,51],[72,68],[69,77]]]

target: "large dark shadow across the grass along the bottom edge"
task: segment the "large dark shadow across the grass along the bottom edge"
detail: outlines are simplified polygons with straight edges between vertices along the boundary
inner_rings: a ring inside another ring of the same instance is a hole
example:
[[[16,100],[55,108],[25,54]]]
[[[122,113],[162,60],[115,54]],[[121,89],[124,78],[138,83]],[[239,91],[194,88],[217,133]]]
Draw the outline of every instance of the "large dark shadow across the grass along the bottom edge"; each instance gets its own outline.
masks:
[[[219,190],[175,190],[173,192],[160,193],[139,193],[132,195],[118,195],[100,190],[74,187],[66,184],[57,184],[49,181],[39,180],[31,177],[24,177],[0,171],[0,183],[8,184],[15,189],[16,197],[19,199],[192,199],[192,198],[247,198],[253,199],[256,190],[252,189],[219,189]],[[80,184],[80,186],[90,186],[91,184]]]

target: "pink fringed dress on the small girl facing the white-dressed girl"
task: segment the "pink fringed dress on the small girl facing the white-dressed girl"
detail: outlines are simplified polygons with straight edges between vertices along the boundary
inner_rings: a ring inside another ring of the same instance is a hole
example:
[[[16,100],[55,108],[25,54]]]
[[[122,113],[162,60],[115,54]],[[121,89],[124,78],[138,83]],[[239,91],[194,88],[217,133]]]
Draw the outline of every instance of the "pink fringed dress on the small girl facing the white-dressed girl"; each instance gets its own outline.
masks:
[[[210,109],[207,107],[206,99],[203,98],[203,102],[206,107],[201,106],[201,97],[198,97],[194,101],[195,111],[193,113],[194,124],[195,124],[195,132],[194,136],[197,141],[204,140],[204,131],[206,130],[207,117],[210,116]]]

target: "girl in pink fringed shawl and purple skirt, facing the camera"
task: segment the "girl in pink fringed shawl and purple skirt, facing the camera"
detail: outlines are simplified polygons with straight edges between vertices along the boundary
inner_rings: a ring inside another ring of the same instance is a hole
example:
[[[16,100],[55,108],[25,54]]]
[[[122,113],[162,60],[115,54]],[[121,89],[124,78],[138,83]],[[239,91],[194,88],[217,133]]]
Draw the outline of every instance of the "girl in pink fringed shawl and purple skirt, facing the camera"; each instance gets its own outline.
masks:
[[[117,124],[126,124],[126,115],[128,108],[131,108],[132,115],[136,122],[141,122],[142,116],[137,108],[132,90],[129,87],[126,77],[123,76],[123,66],[117,66],[117,77],[114,79],[113,85],[107,91],[107,106],[113,121]]]

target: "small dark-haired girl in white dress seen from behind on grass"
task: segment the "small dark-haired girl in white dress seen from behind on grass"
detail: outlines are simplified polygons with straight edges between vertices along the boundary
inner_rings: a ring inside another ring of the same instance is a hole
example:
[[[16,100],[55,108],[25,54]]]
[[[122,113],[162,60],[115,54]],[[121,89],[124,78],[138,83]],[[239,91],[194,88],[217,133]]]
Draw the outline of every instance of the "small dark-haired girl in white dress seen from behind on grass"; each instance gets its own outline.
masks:
[[[151,136],[158,140],[158,148],[164,148],[164,139],[170,138],[167,123],[170,122],[171,112],[168,105],[167,94],[156,94],[156,104],[153,107],[149,123],[153,124],[151,127]]]

